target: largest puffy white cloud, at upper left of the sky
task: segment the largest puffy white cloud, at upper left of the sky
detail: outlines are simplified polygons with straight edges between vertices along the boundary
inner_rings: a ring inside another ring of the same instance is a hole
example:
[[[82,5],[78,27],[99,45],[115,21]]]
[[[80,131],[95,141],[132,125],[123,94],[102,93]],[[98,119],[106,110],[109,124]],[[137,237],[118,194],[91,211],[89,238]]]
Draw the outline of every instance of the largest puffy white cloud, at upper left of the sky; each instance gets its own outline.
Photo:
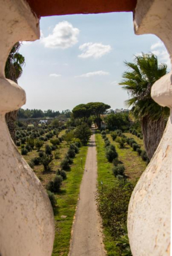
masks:
[[[68,21],[56,24],[53,33],[49,36],[41,36],[41,42],[46,48],[69,48],[78,43],[79,29],[72,26]]]

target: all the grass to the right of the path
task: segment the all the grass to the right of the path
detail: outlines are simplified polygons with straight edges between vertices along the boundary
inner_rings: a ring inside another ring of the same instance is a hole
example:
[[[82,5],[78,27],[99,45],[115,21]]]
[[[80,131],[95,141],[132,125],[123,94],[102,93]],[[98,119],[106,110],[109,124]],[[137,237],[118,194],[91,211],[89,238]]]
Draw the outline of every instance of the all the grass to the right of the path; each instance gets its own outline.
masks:
[[[135,151],[133,151],[132,147],[126,144],[125,148],[119,148],[119,144],[113,141],[112,137],[109,134],[107,135],[107,137],[109,138],[110,143],[116,146],[116,151],[119,155],[118,159],[125,166],[125,174],[128,175],[128,179],[131,182],[133,182],[133,184],[135,184],[138,178],[141,176],[142,172],[145,170],[146,163],[141,159],[140,156],[138,156],[138,154]],[[99,192],[101,192],[101,181],[103,182],[103,187],[110,187],[113,186],[116,178],[114,178],[112,173],[113,164],[109,163],[106,159],[104,140],[101,137],[100,132],[97,132],[96,134],[96,145],[98,166],[98,189]],[[120,256],[118,252],[119,250],[116,247],[116,243],[114,242],[113,236],[111,235],[108,227],[103,227],[103,234],[103,242],[105,249],[107,251],[107,256]]]

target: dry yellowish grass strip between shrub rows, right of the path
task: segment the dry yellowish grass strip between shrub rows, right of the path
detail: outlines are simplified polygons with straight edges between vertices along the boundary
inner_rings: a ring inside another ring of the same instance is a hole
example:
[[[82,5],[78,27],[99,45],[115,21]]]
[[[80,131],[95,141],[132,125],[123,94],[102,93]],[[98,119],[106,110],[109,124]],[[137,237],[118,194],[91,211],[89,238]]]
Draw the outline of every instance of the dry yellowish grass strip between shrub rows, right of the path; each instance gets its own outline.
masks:
[[[132,134],[129,134],[132,135]],[[135,136],[135,135],[133,135]],[[128,144],[125,145],[125,148],[119,148],[119,143],[112,140],[112,137],[108,134],[107,137],[116,147],[118,153],[119,161],[125,166],[125,174],[128,176],[130,182],[136,182],[142,175],[142,172],[146,169],[146,162],[144,162],[136,151],[133,151],[133,148]],[[137,138],[136,136],[134,139]],[[140,140],[140,139],[139,139]]]

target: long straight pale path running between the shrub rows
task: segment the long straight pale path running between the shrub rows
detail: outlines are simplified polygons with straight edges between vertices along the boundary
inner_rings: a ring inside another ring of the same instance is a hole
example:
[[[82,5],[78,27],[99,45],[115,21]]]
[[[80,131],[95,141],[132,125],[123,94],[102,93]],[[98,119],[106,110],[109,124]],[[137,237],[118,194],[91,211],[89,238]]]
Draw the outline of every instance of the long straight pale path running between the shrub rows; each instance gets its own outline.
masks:
[[[94,131],[94,129],[93,129]],[[97,158],[95,134],[91,135],[73,226],[69,256],[105,256],[95,192]]]

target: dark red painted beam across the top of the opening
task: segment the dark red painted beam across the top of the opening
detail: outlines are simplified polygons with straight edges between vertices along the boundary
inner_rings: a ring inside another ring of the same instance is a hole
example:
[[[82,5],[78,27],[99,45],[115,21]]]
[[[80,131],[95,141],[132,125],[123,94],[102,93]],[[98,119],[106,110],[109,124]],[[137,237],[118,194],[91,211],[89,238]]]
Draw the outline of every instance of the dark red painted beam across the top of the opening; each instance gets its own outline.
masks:
[[[38,17],[134,11],[136,0],[27,0]]]

